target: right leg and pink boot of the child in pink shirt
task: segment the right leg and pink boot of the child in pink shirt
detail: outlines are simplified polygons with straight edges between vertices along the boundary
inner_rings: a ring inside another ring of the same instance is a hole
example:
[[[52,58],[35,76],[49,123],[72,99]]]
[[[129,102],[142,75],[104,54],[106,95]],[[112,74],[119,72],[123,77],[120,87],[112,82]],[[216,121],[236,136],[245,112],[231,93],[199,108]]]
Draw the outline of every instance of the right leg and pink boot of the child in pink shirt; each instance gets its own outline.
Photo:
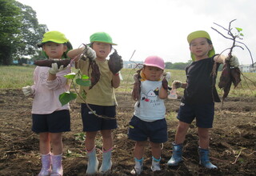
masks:
[[[63,175],[63,168],[62,168],[62,150],[63,150],[63,143],[62,143],[62,133],[50,133],[51,144],[53,148],[53,155],[52,158],[52,174],[51,176],[59,176]]]

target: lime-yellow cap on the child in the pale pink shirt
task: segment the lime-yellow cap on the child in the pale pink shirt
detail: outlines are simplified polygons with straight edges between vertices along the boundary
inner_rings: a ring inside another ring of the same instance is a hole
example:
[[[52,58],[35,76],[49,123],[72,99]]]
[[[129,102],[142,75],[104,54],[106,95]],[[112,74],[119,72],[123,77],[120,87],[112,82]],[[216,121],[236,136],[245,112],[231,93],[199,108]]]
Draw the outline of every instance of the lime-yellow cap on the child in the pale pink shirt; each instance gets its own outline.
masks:
[[[42,43],[44,42],[56,42],[56,43],[66,43],[69,42],[65,35],[58,31],[49,31],[43,34]]]

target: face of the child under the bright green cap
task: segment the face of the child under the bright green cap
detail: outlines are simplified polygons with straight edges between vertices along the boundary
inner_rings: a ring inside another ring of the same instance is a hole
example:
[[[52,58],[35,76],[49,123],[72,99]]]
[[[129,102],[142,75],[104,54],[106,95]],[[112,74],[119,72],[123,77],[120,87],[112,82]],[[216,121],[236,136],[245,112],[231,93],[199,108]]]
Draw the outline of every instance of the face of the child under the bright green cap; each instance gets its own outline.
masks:
[[[111,52],[111,45],[105,42],[94,42],[92,48],[96,52],[97,58],[105,60]]]

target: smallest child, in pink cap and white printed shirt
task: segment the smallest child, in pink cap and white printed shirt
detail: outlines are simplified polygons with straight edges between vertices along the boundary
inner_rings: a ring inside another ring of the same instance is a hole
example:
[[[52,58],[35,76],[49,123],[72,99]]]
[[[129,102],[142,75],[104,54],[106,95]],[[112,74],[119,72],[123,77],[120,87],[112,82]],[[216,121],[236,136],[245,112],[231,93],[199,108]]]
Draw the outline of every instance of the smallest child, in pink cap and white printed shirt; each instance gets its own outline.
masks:
[[[134,84],[132,97],[137,102],[134,105],[134,116],[130,120],[128,136],[136,141],[134,148],[135,166],[131,174],[141,174],[143,170],[143,154],[147,139],[150,140],[152,152],[151,170],[161,170],[161,143],[167,141],[167,124],[165,119],[168,82],[161,80],[165,63],[158,56],[146,58],[142,70],[134,75],[134,81],[140,81],[140,93]],[[138,80],[139,78],[139,80]]]

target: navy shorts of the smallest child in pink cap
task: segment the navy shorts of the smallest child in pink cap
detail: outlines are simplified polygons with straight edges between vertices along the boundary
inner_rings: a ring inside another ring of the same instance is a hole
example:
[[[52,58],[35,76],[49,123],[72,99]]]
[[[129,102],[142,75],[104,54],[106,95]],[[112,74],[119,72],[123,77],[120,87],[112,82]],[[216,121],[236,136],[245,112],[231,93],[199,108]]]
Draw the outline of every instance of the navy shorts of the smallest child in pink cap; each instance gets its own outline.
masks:
[[[154,122],[145,122],[135,115],[129,123],[128,137],[134,141],[162,143],[168,140],[166,118]]]

